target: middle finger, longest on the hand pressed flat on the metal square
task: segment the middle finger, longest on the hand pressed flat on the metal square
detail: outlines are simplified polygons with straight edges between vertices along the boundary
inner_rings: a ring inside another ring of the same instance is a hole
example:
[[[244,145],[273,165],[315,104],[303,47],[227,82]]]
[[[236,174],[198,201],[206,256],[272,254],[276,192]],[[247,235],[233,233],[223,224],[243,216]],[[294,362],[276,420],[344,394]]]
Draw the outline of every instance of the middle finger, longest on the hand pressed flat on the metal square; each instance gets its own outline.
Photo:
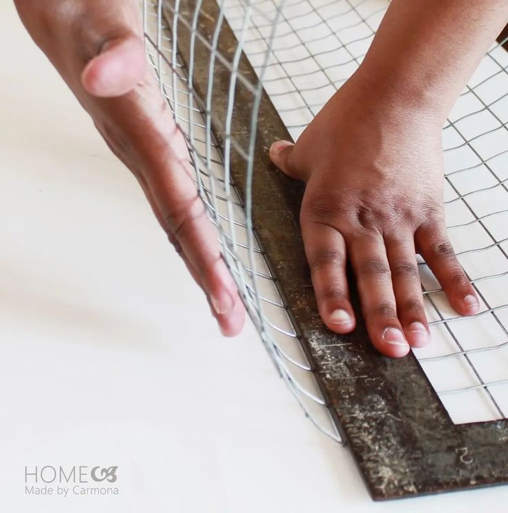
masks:
[[[372,233],[346,242],[373,345],[392,358],[405,356],[409,352],[409,344],[397,316],[391,271],[382,236]]]

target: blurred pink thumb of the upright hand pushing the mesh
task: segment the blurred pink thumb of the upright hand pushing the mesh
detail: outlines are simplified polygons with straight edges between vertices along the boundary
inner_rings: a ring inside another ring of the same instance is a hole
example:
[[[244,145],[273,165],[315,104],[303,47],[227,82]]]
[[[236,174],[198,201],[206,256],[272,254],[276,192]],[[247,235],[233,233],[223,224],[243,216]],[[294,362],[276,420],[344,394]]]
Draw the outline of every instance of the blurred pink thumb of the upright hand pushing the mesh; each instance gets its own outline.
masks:
[[[128,93],[146,72],[144,43],[133,32],[106,40],[99,54],[81,73],[81,84],[92,96],[117,97]]]

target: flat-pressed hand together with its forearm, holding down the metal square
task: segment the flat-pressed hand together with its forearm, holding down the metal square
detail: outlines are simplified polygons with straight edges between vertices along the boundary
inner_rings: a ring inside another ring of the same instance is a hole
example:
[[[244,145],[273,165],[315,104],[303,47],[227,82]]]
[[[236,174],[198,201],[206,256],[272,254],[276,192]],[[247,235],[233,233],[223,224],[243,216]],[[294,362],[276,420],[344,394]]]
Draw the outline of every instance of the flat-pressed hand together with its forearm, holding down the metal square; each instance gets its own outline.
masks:
[[[373,345],[430,341],[420,253],[458,313],[479,303],[444,226],[441,127],[508,21],[504,0],[393,0],[355,74],[273,162],[306,182],[300,224],[320,314],[349,333],[346,260]]]

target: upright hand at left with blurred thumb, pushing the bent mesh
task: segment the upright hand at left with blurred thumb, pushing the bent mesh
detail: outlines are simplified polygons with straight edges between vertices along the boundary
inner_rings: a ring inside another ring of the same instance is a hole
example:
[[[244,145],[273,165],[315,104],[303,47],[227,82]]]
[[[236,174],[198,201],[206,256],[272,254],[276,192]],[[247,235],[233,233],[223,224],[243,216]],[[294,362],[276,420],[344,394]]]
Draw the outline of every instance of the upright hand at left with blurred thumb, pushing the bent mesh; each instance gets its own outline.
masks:
[[[137,3],[15,3],[34,41],[141,184],[169,240],[206,293],[222,333],[239,333],[244,307],[197,195],[184,138],[146,66]]]

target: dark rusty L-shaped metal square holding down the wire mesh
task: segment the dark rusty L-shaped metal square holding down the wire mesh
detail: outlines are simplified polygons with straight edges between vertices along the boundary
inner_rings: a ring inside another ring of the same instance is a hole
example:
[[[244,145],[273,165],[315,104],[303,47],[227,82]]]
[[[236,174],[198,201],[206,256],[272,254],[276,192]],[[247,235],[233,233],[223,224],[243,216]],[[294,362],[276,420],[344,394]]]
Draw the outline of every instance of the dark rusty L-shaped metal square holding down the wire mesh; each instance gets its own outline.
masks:
[[[180,0],[180,16],[191,23],[195,0]],[[173,10],[165,10],[173,23]],[[198,31],[211,40],[218,17],[217,3],[205,0]],[[188,62],[190,31],[181,20],[178,42]],[[236,49],[233,32],[224,25],[219,50],[232,59]],[[194,58],[194,87],[202,95],[208,84],[210,53],[199,40]],[[256,83],[245,57],[242,74]],[[213,106],[215,133],[221,140],[230,71],[215,64]],[[251,126],[251,93],[236,88],[233,137],[247,148]],[[416,358],[402,360],[380,356],[373,349],[362,322],[358,297],[353,303],[358,328],[348,336],[326,329],[317,314],[298,223],[302,184],[277,171],[268,159],[275,139],[290,139],[266,94],[257,124],[253,184],[253,220],[280,282],[289,309],[325,397],[346,437],[373,499],[444,492],[508,482],[508,426],[505,420],[453,425]],[[244,191],[244,159],[232,151],[232,173]]]

